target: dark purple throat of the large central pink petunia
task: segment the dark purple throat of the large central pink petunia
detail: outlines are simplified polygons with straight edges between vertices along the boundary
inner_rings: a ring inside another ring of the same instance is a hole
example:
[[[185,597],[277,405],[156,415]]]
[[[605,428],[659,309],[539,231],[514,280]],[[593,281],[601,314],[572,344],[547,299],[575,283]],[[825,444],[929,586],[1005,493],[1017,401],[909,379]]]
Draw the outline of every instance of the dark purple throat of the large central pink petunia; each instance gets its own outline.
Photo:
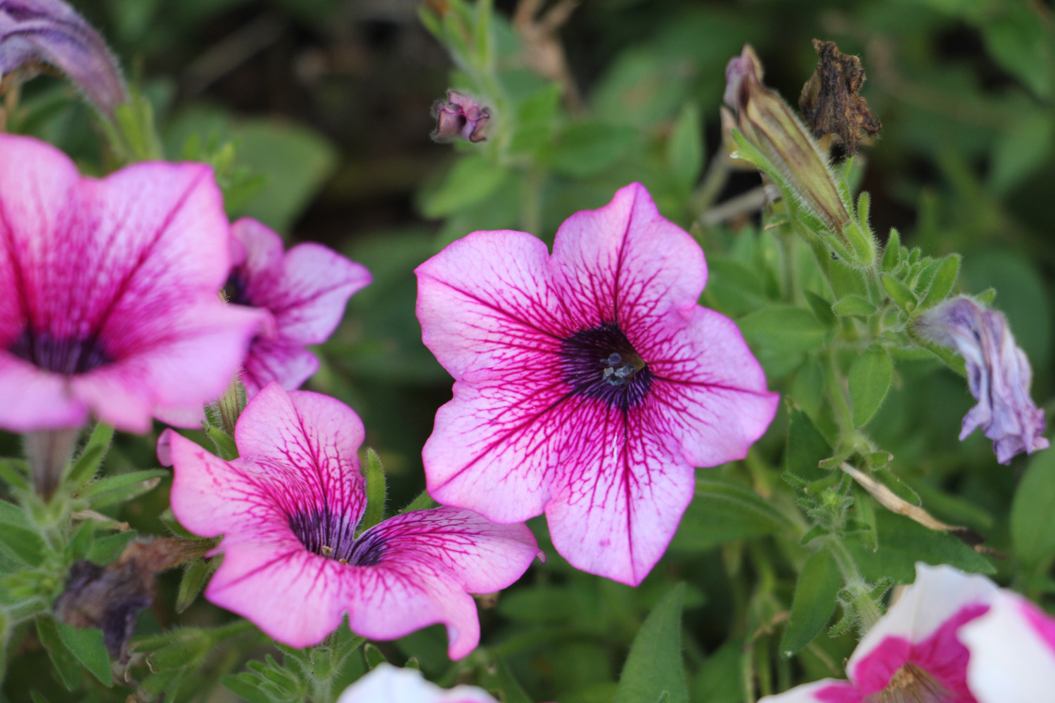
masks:
[[[616,323],[580,330],[560,346],[560,369],[572,392],[629,410],[645,399],[652,372]]]

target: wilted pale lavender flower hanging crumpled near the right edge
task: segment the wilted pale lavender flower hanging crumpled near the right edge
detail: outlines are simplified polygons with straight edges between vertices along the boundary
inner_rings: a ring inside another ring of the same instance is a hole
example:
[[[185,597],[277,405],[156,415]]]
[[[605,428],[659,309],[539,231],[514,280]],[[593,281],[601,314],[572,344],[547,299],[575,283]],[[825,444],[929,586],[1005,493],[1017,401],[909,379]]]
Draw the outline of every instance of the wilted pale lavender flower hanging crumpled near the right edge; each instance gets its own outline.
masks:
[[[1001,464],[1010,464],[1018,452],[1032,454],[1049,447],[1040,436],[1043,410],[1030,397],[1030,360],[1015,344],[1002,313],[960,296],[920,315],[917,330],[963,356],[967,387],[978,405],[963,417],[961,441],[982,428]]]

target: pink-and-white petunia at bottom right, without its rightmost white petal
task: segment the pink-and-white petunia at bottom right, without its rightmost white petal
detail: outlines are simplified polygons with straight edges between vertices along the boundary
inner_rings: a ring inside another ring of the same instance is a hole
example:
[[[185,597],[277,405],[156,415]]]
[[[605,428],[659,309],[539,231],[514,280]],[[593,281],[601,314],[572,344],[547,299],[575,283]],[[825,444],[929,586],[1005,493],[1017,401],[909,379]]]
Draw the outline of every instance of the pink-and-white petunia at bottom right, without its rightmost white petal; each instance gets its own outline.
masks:
[[[961,628],[989,610],[998,590],[985,577],[918,563],[916,583],[847,662],[849,681],[825,679],[759,703],[976,703],[966,678],[974,655]]]

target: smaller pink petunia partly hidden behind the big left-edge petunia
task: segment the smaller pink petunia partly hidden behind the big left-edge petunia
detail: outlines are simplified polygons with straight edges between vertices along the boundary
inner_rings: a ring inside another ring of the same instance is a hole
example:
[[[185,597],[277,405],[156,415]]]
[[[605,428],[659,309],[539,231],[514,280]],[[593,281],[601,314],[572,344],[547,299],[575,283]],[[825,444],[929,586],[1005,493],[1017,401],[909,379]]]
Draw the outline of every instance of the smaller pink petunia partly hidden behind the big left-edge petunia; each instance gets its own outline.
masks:
[[[271,380],[299,388],[319,370],[305,347],[329,338],[348,298],[370,282],[370,274],[322,245],[296,245],[284,253],[282,238],[253,219],[236,221],[231,235],[235,266],[224,287],[228,299],[264,308],[275,323],[273,333],[258,335],[249,347],[242,374],[247,395]]]

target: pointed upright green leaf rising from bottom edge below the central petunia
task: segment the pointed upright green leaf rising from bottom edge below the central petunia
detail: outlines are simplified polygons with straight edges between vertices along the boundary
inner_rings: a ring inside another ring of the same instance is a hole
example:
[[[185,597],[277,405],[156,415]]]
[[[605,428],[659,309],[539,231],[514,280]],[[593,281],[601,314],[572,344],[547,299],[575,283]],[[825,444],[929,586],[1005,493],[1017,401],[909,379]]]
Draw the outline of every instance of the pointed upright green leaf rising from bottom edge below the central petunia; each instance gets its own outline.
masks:
[[[677,584],[652,608],[630,645],[615,703],[654,701],[664,691],[671,703],[689,703],[682,663],[682,601],[685,584]]]

